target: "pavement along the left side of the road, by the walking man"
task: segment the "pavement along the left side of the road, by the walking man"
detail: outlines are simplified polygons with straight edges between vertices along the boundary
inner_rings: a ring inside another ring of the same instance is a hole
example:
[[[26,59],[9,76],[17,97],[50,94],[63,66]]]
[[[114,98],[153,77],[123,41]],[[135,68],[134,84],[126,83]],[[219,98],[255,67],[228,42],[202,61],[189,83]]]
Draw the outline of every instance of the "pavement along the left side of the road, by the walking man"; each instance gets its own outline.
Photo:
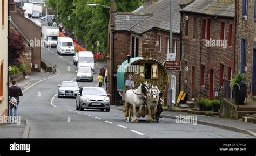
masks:
[[[52,73],[46,73],[44,70],[41,70],[40,73],[32,72],[31,75],[26,76],[26,79],[18,81],[17,84],[21,87],[22,91],[24,91],[29,86],[50,76],[52,76]],[[30,130],[29,120],[22,116],[18,116],[18,118],[19,117],[21,118],[18,123],[5,123],[0,125],[0,138],[28,138]]]

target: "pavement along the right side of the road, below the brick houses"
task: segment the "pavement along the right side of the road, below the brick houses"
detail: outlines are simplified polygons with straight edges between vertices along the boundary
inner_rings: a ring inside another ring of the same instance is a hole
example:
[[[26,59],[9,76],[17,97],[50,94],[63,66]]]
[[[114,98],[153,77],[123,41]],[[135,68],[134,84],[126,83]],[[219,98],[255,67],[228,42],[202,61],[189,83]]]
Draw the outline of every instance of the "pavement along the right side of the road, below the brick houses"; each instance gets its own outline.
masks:
[[[123,111],[124,106],[111,106],[111,109],[116,109]],[[234,132],[249,134],[251,136],[256,137],[256,124],[253,123],[245,123],[241,120],[232,120],[232,119],[224,119],[220,117],[210,117],[205,115],[194,115],[188,114],[186,112],[170,112],[170,111],[163,111],[161,116],[164,118],[170,119],[177,119],[177,116],[197,116],[197,123],[201,125],[208,125],[213,127],[218,127],[220,129],[231,130]],[[161,118],[159,119],[159,121]]]

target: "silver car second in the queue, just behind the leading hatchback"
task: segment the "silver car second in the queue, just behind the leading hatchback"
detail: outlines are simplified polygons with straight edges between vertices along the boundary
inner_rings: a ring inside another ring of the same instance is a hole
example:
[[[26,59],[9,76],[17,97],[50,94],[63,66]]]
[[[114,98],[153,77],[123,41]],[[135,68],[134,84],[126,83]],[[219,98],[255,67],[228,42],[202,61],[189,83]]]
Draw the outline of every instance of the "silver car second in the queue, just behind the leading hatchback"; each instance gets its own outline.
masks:
[[[63,81],[62,84],[58,85],[58,98],[60,97],[76,97],[80,88],[77,82]]]

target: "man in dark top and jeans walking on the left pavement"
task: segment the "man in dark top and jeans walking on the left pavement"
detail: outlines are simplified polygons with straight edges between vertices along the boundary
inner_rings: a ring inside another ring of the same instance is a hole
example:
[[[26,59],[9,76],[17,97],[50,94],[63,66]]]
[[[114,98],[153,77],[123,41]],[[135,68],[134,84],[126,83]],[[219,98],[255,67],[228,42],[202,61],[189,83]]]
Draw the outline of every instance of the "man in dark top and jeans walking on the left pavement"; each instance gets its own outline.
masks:
[[[22,90],[20,87],[17,86],[17,82],[14,80],[11,82],[12,86],[10,87],[10,97],[15,97],[19,100],[19,96],[23,96]],[[14,109],[14,114],[12,112],[12,109]],[[10,117],[12,119],[15,118],[14,122],[17,123],[18,119],[18,106],[14,107],[13,105],[10,104]]]

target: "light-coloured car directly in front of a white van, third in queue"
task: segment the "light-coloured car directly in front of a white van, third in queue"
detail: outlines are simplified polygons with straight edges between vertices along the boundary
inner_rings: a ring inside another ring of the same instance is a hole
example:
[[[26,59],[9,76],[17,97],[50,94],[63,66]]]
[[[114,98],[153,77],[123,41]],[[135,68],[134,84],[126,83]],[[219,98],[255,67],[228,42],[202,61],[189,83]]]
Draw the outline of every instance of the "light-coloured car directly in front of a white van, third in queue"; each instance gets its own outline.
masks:
[[[94,72],[91,67],[79,67],[77,73],[77,82],[79,81],[91,81],[93,82]]]

